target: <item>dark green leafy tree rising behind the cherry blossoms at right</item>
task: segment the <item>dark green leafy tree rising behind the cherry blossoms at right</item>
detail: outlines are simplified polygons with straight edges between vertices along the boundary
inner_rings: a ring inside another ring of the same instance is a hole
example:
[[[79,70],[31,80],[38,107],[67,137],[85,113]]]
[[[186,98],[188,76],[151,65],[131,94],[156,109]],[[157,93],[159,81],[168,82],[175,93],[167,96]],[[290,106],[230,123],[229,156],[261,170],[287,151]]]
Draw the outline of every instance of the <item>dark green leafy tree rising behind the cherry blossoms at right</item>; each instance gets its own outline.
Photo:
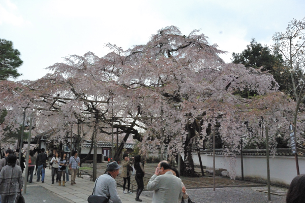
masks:
[[[280,85],[280,91],[288,92],[290,90],[290,73],[283,65],[282,55],[277,52],[272,53],[267,46],[262,46],[255,39],[252,39],[250,45],[247,45],[247,49],[241,53],[233,52],[232,57],[233,63],[242,63],[246,67],[262,67],[262,71],[273,75]]]

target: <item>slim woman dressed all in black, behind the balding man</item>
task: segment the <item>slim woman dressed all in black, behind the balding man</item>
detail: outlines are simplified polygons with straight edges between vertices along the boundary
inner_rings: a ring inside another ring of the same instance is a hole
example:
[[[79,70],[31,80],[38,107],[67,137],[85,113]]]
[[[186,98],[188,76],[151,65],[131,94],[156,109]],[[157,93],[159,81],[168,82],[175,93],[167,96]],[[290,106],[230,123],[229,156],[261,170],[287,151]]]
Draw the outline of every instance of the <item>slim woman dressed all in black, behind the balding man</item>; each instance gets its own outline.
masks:
[[[138,185],[137,188],[137,196],[136,196],[136,201],[142,201],[142,199],[140,199],[140,195],[144,189],[144,182],[143,182],[143,177],[145,175],[145,171],[144,171],[144,166],[141,163],[141,156],[137,155],[135,156],[135,164],[134,164],[135,170],[136,170],[136,182]]]

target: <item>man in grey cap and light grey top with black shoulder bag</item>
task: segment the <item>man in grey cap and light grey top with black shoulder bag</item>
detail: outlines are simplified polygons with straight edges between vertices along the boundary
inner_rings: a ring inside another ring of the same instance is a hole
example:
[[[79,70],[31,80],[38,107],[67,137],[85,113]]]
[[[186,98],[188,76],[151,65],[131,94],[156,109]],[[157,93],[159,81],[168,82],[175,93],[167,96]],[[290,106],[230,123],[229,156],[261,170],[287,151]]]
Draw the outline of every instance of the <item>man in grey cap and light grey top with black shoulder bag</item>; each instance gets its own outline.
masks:
[[[110,198],[108,202],[121,203],[114,180],[119,173],[119,166],[116,161],[108,163],[106,173],[96,180],[94,195]]]

